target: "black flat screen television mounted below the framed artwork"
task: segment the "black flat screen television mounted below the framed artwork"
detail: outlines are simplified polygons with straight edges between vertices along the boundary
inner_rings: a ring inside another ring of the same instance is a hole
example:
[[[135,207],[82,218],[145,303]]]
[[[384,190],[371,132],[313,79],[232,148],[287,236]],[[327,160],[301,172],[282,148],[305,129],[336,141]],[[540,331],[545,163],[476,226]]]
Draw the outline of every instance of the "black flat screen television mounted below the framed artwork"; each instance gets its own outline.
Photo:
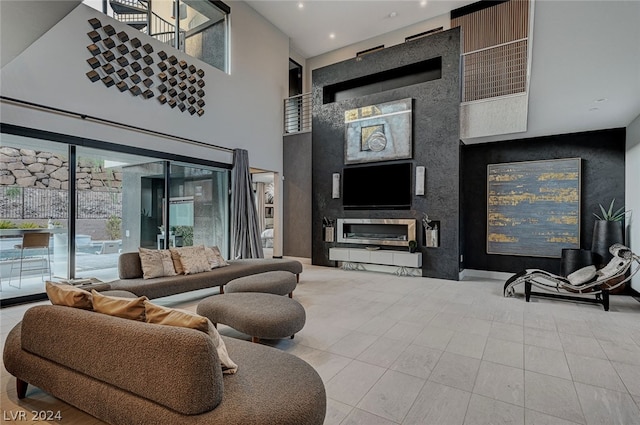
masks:
[[[345,209],[411,208],[411,163],[346,167],[342,172]]]

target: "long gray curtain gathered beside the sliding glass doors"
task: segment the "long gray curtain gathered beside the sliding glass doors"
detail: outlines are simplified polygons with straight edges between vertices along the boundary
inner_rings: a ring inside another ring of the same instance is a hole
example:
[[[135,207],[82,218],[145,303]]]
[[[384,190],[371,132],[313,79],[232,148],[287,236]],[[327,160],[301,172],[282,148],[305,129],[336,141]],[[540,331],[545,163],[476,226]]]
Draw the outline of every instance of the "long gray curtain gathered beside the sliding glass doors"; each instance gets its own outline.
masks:
[[[244,149],[233,150],[231,256],[233,258],[264,258],[256,203],[251,187],[249,153]]]

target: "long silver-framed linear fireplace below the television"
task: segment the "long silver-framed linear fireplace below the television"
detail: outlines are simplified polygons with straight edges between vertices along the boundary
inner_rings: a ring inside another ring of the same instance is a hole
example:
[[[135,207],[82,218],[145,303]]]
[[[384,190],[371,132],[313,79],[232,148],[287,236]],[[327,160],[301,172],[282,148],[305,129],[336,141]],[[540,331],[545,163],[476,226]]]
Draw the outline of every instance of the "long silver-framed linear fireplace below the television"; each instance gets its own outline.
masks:
[[[416,239],[413,219],[339,218],[336,230],[344,243],[408,246]]]

